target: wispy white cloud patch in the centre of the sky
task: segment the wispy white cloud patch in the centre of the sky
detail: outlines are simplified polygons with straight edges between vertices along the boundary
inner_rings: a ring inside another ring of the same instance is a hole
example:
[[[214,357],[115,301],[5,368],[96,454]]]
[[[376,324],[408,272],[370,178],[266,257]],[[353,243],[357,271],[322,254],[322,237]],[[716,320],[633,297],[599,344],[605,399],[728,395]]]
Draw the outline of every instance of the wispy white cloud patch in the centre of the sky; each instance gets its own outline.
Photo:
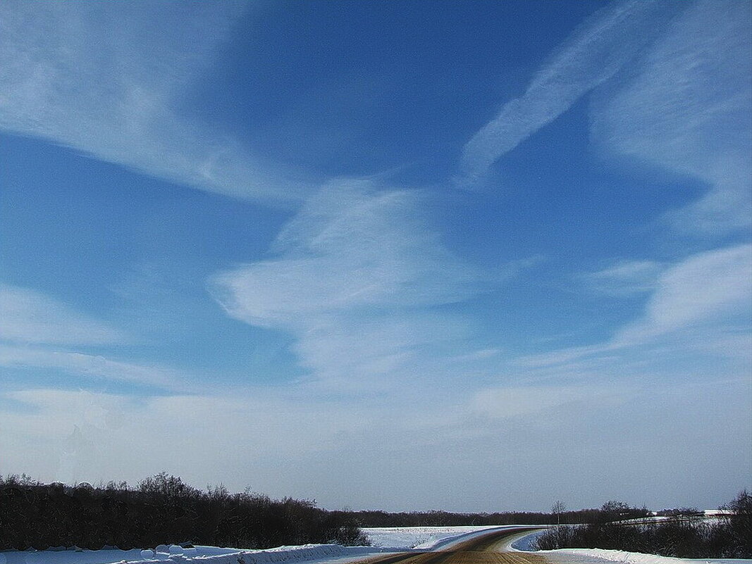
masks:
[[[432,308],[477,291],[472,270],[419,219],[418,202],[368,181],[332,182],[280,233],[279,258],[219,273],[211,291],[232,317],[292,332],[320,379],[418,375],[423,349],[466,333],[464,321]]]

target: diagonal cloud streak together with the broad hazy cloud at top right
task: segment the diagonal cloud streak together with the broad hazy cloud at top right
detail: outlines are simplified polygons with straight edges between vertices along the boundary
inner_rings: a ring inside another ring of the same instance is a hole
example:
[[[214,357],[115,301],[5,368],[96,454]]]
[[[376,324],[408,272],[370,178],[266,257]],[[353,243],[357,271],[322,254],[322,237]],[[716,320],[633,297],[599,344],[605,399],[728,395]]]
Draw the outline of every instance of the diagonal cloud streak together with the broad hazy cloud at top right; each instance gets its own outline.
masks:
[[[667,218],[715,237],[752,222],[752,77],[745,2],[622,2],[583,23],[462,152],[472,185],[502,155],[593,92],[591,137],[607,152],[708,185]]]

